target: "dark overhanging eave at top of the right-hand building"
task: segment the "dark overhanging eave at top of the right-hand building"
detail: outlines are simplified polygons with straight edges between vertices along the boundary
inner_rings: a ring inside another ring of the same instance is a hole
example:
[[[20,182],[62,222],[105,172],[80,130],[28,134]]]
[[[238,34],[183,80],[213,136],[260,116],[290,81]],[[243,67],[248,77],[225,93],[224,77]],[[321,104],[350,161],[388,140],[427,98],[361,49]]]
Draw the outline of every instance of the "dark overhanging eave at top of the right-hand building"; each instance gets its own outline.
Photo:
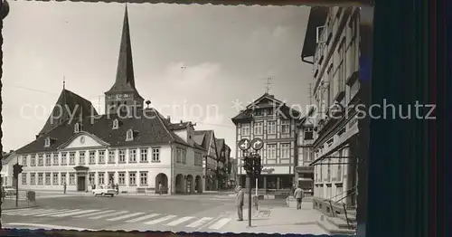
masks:
[[[312,57],[315,54],[316,31],[317,27],[324,25],[326,22],[326,16],[328,15],[327,6],[313,6],[309,12],[309,20],[307,21],[305,43],[303,43],[303,49],[301,51],[301,58]]]

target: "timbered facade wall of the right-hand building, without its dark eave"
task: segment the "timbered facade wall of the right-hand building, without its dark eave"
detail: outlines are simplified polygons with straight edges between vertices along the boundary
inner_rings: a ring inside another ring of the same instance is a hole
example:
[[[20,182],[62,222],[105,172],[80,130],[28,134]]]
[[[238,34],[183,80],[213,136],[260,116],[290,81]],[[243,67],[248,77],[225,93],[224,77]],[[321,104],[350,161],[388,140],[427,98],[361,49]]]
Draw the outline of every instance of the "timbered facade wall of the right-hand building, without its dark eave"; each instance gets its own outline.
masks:
[[[330,8],[330,13],[325,23],[328,28],[325,33],[333,33],[331,42],[317,44],[317,55],[315,59],[320,59],[324,55],[325,60],[319,64],[315,62],[315,104],[317,105],[315,126],[318,130],[315,134],[314,146],[314,195],[318,198],[333,198],[334,201],[340,199],[340,203],[345,203],[344,192],[353,188],[353,178],[355,170],[350,163],[353,163],[352,140],[358,133],[355,115],[350,113],[340,119],[333,128],[323,128],[318,124],[320,119],[328,120],[325,108],[333,103],[340,103],[345,109],[350,108],[353,97],[359,90],[359,81],[347,85],[347,81],[353,72],[359,68],[359,15],[348,14],[344,16],[343,10],[339,7]],[[351,8],[356,11],[356,8]],[[340,23],[344,22],[344,28],[340,28]],[[337,36],[337,37],[336,37]],[[343,92],[344,99],[336,100],[336,96]],[[321,106],[324,106],[323,108]]]

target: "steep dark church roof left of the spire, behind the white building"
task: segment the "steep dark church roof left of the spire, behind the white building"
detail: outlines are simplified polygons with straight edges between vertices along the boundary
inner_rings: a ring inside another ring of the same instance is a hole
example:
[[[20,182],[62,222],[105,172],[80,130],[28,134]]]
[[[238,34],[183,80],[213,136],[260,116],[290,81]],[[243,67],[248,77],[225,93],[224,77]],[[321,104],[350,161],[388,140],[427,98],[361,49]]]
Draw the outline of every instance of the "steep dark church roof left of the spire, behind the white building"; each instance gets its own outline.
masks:
[[[85,100],[70,90],[63,89],[52,109],[52,114],[49,115],[39,134],[43,134],[57,127],[61,122],[60,118],[61,120],[70,119],[70,113],[73,113],[72,118],[79,118],[82,113],[86,115],[98,115],[98,112],[89,100]]]

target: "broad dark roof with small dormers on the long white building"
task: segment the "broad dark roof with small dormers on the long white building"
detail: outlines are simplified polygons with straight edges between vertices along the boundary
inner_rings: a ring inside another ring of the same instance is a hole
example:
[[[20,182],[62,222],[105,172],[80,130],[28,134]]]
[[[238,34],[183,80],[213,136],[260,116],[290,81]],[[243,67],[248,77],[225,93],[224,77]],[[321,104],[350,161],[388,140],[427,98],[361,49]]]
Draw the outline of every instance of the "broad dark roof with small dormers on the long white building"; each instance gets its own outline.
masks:
[[[174,134],[171,128],[165,125],[165,121],[158,116],[154,109],[141,110],[145,115],[137,118],[120,119],[117,114],[102,115],[98,117],[84,117],[81,120],[81,130],[102,141],[108,143],[110,147],[134,146],[134,145],[162,145],[170,142],[191,147],[183,138]],[[156,115],[156,116],[155,116]],[[113,121],[119,120],[119,128],[112,129]],[[74,125],[79,120],[66,120],[58,127],[53,128],[33,142],[19,148],[17,154],[52,152],[56,151],[72,137],[74,137]],[[137,131],[137,137],[133,141],[126,141],[127,130]],[[51,137],[50,147],[44,147],[45,138]],[[194,146],[195,148],[202,148]]]

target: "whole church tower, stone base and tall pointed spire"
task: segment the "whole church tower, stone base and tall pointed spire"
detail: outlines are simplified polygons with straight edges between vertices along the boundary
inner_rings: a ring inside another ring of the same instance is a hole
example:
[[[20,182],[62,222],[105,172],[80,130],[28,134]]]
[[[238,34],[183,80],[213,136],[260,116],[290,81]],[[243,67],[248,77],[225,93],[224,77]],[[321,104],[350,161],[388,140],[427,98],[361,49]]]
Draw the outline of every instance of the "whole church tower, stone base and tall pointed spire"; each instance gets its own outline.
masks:
[[[122,26],[121,44],[119,45],[118,70],[115,84],[105,92],[105,113],[131,111],[143,107],[143,97],[135,87],[134,64],[130,43],[127,5]]]

